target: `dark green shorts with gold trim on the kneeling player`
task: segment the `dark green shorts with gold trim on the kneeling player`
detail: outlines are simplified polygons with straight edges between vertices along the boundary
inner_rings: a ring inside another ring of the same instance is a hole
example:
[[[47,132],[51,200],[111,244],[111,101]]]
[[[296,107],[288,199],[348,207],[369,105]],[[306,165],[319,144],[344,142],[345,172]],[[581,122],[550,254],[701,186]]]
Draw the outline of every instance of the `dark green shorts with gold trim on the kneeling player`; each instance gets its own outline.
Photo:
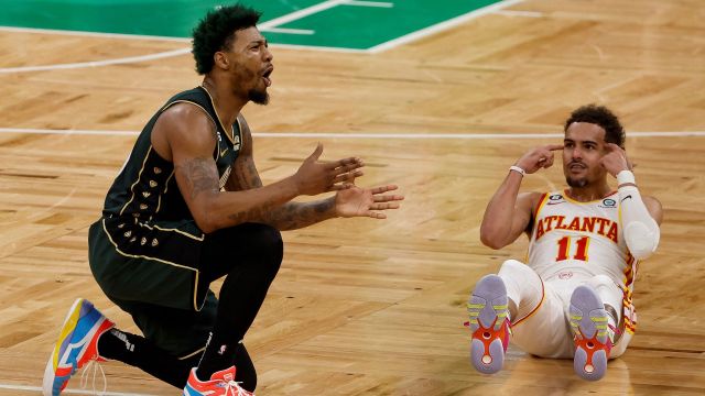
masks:
[[[144,337],[177,356],[205,346],[217,299],[199,279],[204,234],[193,220],[104,217],[90,226],[88,260],[105,294]]]

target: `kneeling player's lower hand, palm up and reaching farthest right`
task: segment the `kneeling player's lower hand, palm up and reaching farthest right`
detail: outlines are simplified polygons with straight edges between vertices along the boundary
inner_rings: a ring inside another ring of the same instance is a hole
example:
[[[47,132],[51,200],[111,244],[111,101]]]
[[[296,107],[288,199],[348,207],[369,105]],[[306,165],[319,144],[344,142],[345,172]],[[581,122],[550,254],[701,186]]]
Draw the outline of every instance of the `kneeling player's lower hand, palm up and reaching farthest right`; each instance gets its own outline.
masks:
[[[335,197],[335,209],[340,217],[370,217],[386,219],[382,210],[398,209],[404,197],[397,194],[384,194],[397,189],[394,185],[375,188],[361,188],[347,185]]]

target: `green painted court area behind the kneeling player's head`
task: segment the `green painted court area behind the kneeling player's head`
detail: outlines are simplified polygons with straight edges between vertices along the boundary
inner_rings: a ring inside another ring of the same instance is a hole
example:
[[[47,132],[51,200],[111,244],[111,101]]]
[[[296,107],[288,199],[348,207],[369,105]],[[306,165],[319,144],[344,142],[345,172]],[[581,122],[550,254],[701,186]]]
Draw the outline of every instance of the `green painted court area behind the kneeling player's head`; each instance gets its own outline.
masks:
[[[241,0],[271,43],[368,50],[499,0]],[[0,25],[189,37],[216,0],[0,0]]]

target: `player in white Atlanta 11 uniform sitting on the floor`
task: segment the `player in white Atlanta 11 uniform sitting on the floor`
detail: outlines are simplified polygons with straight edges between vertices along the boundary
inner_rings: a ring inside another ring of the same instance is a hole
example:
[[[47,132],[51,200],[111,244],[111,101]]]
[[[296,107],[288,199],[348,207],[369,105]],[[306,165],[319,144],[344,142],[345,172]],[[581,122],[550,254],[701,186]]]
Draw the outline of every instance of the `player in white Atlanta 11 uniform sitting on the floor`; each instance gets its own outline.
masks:
[[[506,261],[469,297],[470,360],[481,373],[502,367],[511,336],[527,353],[572,358],[578,376],[597,381],[633,334],[633,280],[659,244],[661,204],[640,195],[611,111],[582,107],[564,131],[563,144],[533,148],[510,167],[485,211],[487,246],[501,249],[524,232],[530,243],[527,263]],[[568,188],[519,194],[527,175],[553,165],[554,153],[563,155]]]

